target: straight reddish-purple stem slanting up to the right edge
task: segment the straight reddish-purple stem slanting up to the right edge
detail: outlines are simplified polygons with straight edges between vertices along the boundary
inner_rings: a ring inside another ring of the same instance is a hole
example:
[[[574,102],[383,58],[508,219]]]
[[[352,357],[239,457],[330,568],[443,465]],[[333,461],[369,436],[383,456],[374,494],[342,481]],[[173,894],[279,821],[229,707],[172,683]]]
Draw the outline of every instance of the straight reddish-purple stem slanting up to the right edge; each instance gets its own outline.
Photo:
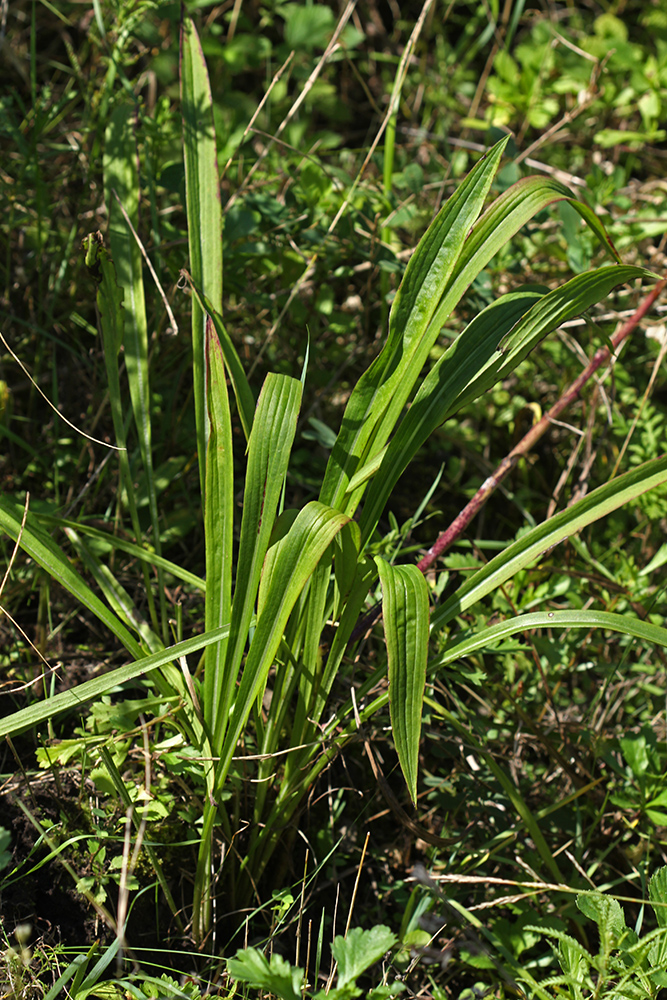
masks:
[[[548,412],[545,413],[533,427],[531,427],[528,433],[525,434],[519,443],[512,448],[509,454],[505,456],[496,470],[482,483],[470,503],[466,504],[461,513],[454,518],[447,530],[443,531],[442,534],[438,536],[436,542],[431,546],[423,559],[417,563],[417,568],[420,569],[422,573],[425,573],[433,565],[435,560],[441,556],[443,552],[446,552],[450,545],[467,528],[473,517],[479,513],[494,490],[498,488],[503,479],[505,479],[508,473],[510,473],[517,465],[519,459],[524,455],[527,455],[528,452],[535,447],[540,438],[545,434],[552,420],[559,417],[563,410],[567,409],[570,403],[574,402],[574,400],[581,393],[581,390],[585,386],[586,382],[588,382],[591,376],[595,374],[598,368],[600,368],[605,362],[612,359],[613,355],[626,337],[629,337],[639,321],[644,318],[662,292],[665,285],[667,285],[667,278],[663,278],[662,281],[658,282],[655,288],[648,293],[644,301],[633,313],[630,319],[623,324],[620,330],[616,331],[614,336],[611,338],[612,350],[605,346],[595,352],[584,370],[574,380],[570,387],[566,389],[560,399],[554,403],[551,409],[548,410]]]

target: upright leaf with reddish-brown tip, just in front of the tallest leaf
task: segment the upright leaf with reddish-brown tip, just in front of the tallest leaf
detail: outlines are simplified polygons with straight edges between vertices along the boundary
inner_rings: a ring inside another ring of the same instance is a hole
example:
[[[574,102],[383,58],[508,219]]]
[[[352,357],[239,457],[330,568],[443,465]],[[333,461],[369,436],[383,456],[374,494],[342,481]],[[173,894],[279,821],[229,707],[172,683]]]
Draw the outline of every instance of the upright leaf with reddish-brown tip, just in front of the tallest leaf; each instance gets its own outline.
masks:
[[[232,421],[220,341],[210,319],[206,324],[207,402],[209,439],[206,458],[204,532],[206,541],[206,631],[220,628],[231,617],[234,559],[234,453]],[[204,719],[209,731],[218,713],[229,716],[236,678],[225,677],[227,643],[206,651]]]

